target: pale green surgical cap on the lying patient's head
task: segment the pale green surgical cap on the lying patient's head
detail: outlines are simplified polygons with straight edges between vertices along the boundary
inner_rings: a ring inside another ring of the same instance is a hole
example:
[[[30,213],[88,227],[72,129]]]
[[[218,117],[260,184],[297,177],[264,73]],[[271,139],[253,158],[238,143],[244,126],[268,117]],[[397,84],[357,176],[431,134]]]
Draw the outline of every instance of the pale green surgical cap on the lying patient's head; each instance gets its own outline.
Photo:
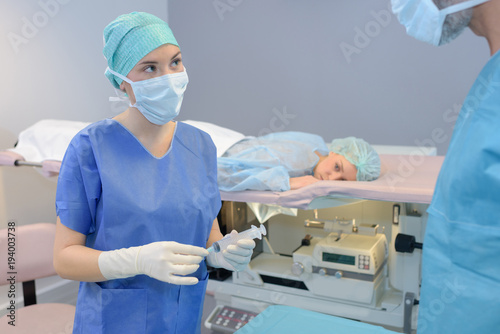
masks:
[[[380,157],[366,141],[361,138],[347,137],[334,139],[328,144],[330,151],[343,155],[356,166],[356,180],[373,181],[380,175]]]

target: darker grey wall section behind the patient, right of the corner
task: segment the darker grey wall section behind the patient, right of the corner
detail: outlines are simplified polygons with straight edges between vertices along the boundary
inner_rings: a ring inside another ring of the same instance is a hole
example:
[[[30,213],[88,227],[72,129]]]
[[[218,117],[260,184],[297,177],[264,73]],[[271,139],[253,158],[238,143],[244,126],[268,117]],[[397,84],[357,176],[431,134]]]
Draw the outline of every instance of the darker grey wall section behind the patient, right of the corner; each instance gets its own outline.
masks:
[[[487,44],[467,30],[427,45],[388,9],[388,0],[170,1],[190,76],[182,117],[444,154]]]

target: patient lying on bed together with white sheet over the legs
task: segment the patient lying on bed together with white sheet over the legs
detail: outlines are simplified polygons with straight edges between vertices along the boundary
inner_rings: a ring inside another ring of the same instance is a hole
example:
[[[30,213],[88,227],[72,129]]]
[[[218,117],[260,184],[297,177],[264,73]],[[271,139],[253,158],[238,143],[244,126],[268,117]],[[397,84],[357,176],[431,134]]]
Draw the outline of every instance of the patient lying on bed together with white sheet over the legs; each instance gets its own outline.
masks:
[[[320,136],[303,132],[256,138],[211,123],[184,123],[212,137],[217,147],[219,188],[223,191],[286,191],[320,180],[371,181],[380,174],[377,153],[362,139],[335,139],[327,145]],[[18,146],[3,152],[0,164],[2,158],[9,165],[18,159],[40,162],[47,176],[57,175],[71,138],[88,124],[41,120],[21,132]]]

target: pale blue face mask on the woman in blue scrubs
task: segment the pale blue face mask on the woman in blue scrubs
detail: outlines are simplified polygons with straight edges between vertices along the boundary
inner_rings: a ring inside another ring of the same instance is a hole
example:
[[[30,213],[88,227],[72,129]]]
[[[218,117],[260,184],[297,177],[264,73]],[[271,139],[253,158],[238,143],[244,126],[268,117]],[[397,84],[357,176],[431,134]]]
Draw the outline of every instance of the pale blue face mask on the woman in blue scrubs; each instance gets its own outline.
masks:
[[[139,109],[151,123],[163,125],[179,115],[184,91],[189,82],[186,68],[184,72],[135,82],[110,68],[106,70],[132,86],[135,104],[130,106]]]

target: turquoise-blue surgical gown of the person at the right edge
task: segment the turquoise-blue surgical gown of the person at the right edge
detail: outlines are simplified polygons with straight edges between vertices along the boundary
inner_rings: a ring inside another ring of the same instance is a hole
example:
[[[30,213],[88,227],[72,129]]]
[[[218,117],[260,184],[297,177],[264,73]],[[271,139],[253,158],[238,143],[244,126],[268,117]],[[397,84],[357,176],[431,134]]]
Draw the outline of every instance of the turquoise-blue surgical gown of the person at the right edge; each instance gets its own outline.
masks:
[[[428,213],[418,333],[500,333],[500,52],[463,104]]]

